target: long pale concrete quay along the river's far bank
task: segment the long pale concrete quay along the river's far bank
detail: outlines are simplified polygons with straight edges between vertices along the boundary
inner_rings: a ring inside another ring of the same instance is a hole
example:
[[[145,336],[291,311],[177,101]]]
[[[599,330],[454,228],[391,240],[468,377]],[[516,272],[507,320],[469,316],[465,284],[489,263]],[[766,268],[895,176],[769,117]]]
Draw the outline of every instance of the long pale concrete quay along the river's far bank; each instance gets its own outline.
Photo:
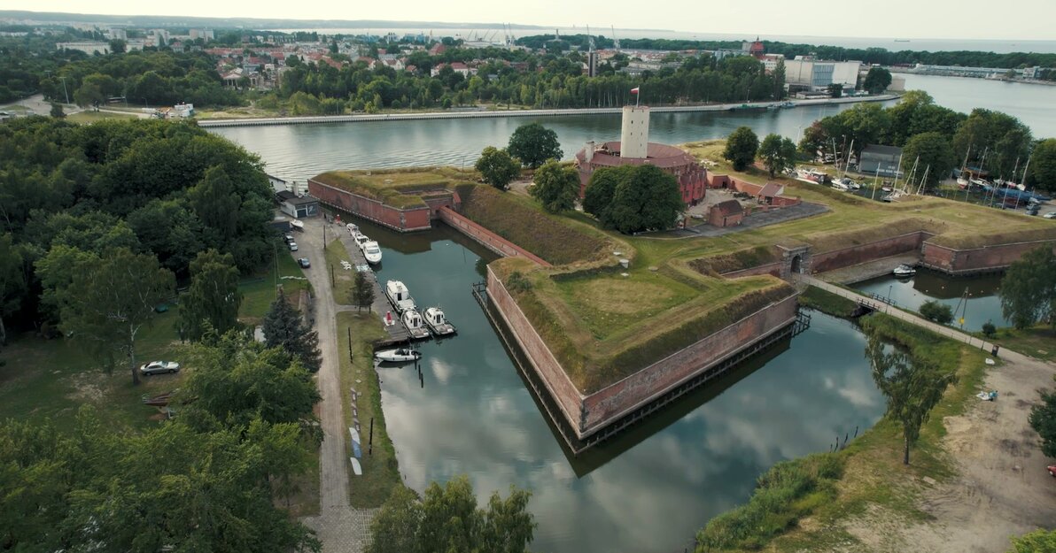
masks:
[[[817,100],[788,100],[794,107],[825,106],[834,103],[855,103],[863,101],[888,101],[897,99],[893,94],[879,96],[856,96],[846,98],[823,98]],[[775,101],[756,101],[738,103],[711,103],[704,106],[661,106],[650,108],[653,113],[687,113],[687,112],[724,112],[734,108],[749,106],[752,109],[767,109]],[[382,113],[361,115],[314,115],[301,117],[260,117],[234,119],[199,119],[204,128],[220,127],[261,127],[274,125],[315,125],[325,122],[371,122],[371,121],[412,121],[421,119],[474,119],[488,117],[561,117],[567,115],[609,115],[619,114],[618,108],[578,108],[566,110],[496,110],[496,111],[444,111],[419,113]]]

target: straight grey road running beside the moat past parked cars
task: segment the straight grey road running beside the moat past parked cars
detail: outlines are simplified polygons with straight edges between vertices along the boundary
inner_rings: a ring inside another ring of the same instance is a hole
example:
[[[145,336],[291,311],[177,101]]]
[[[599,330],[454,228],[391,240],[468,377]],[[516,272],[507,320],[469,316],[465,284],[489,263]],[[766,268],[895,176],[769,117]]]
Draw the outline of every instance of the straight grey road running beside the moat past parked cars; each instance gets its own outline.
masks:
[[[324,553],[359,553],[365,545],[374,511],[353,509],[348,504],[348,455],[344,442],[347,428],[341,404],[337,309],[328,273],[324,270],[324,225],[327,240],[333,240],[343,230],[317,217],[305,220],[304,232],[297,235],[300,253],[312,260],[313,268],[305,270],[305,273],[316,293],[316,330],[319,332],[319,349],[323,355],[318,375],[319,393],[322,396],[319,418],[323,428],[319,474],[320,512],[317,517],[306,518],[305,523],[316,530],[323,542]]]

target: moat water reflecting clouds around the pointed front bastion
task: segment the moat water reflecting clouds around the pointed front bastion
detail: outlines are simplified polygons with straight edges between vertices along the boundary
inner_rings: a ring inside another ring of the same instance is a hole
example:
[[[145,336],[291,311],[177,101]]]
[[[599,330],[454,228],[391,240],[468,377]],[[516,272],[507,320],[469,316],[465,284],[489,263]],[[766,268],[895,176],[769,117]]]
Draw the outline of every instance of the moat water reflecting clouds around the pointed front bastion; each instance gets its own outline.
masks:
[[[419,306],[442,306],[458,328],[422,343],[420,380],[413,365],[380,369],[406,482],[420,491],[465,473],[482,501],[511,483],[531,490],[532,551],[692,550],[694,532],[748,499],[770,465],[827,451],[883,414],[863,336],[814,313],[763,359],[570,458],[470,294],[493,255],[447,228],[361,226],[384,251],[379,276],[403,281]]]

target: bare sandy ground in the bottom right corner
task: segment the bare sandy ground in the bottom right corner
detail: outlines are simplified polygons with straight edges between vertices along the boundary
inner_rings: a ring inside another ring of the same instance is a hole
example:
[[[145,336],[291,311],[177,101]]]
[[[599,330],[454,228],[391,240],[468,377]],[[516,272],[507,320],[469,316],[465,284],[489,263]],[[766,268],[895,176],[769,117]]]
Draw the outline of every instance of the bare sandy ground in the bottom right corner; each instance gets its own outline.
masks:
[[[873,511],[848,528],[867,551],[1003,552],[1012,536],[1056,527],[1056,478],[1045,471],[1054,461],[1041,454],[1027,423],[1056,366],[1011,351],[1001,357],[1005,364],[985,379],[997,401],[978,401],[943,421],[942,443],[959,475],[922,482],[919,507],[935,519],[907,526]]]

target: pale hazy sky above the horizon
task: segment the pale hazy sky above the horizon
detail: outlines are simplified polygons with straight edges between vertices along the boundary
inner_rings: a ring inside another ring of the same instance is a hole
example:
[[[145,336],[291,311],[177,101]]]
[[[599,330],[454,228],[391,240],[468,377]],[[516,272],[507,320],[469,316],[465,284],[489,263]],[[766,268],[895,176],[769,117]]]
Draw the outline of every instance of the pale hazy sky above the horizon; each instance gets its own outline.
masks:
[[[124,15],[512,22],[833,37],[1053,40],[1056,0],[0,0],[0,8]]]

